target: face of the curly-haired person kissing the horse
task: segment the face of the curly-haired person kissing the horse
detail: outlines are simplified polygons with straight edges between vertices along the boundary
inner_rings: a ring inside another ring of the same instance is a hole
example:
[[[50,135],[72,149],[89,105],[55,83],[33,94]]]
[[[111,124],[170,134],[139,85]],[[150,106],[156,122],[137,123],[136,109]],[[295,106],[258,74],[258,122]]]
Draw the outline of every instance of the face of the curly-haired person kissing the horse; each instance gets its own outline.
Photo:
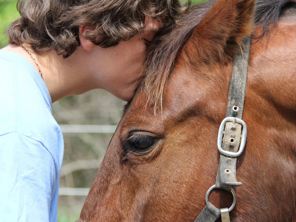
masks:
[[[96,47],[91,51],[91,77],[98,88],[105,89],[120,99],[129,101],[144,77],[147,42],[163,28],[163,23],[145,18],[145,30],[134,38],[116,46]]]

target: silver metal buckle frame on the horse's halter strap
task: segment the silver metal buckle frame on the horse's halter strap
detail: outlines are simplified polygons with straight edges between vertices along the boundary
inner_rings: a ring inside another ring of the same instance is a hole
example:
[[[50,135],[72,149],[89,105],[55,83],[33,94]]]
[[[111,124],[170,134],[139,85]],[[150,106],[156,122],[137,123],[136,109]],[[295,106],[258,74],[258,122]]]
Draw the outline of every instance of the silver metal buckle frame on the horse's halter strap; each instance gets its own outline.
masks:
[[[237,152],[231,152],[231,151],[227,151],[227,150],[222,149],[222,138],[223,138],[223,132],[224,132],[226,122],[233,122],[234,124],[239,123],[243,127],[242,128],[242,137],[241,137],[241,141],[240,141],[240,145],[239,145],[239,150]],[[243,120],[241,120],[239,118],[236,118],[236,117],[226,117],[222,121],[222,123],[220,124],[219,132],[218,132],[218,141],[217,141],[218,150],[225,156],[238,157],[244,151],[244,146],[246,144],[246,139],[247,139],[247,125],[246,125],[246,123]]]

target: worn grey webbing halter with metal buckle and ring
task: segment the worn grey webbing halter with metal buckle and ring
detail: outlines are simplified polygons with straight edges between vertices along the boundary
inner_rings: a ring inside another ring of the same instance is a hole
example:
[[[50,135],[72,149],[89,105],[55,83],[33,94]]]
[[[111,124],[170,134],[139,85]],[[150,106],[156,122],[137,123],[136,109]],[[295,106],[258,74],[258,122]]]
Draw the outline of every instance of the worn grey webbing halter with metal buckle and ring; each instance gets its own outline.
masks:
[[[242,51],[233,55],[233,69],[229,85],[226,118],[222,121],[218,132],[218,150],[220,162],[216,176],[216,184],[206,194],[206,206],[194,222],[215,222],[220,216],[222,222],[230,222],[229,212],[234,208],[236,195],[233,186],[242,185],[236,178],[237,157],[244,151],[247,139],[247,125],[242,120],[244,97],[247,83],[247,72],[250,54],[250,39],[244,39]],[[213,189],[224,189],[233,195],[233,203],[229,208],[218,209],[209,202]]]

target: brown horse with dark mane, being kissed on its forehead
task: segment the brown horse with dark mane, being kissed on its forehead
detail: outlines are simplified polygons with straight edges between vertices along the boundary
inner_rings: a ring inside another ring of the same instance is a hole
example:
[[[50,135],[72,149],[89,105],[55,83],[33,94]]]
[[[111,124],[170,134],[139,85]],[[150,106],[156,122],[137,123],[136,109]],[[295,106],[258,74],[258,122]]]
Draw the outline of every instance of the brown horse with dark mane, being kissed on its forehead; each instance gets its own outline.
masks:
[[[215,184],[232,54],[252,33],[231,221],[296,221],[296,1],[218,0],[156,40],[79,221],[188,221]],[[216,190],[210,201],[229,207]]]

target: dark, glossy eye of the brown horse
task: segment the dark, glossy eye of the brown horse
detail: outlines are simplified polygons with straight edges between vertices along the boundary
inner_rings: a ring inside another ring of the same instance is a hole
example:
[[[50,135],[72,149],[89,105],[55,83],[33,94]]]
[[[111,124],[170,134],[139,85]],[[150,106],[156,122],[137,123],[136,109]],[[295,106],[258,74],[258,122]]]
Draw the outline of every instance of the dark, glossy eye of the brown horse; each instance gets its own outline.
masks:
[[[136,151],[146,151],[152,146],[155,139],[149,135],[133,135],[128,139],[131,143],[131,148]]]

